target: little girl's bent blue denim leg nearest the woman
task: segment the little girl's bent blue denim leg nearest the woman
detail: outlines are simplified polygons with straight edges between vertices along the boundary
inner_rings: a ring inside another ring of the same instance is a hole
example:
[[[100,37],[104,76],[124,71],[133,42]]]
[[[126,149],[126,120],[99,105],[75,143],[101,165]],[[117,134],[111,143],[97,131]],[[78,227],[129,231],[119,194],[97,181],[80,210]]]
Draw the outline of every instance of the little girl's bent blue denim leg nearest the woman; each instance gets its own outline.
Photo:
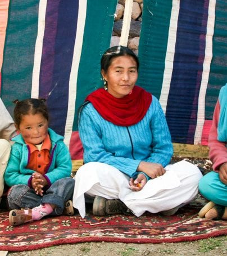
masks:
[[[72,199],[74,183],[75,179],[73,178],[58,179],[58,181],[48,188],[45,195],[43,195],[42,204],[54,204],[56,208],[52,214],[62,214],[65,202]]]

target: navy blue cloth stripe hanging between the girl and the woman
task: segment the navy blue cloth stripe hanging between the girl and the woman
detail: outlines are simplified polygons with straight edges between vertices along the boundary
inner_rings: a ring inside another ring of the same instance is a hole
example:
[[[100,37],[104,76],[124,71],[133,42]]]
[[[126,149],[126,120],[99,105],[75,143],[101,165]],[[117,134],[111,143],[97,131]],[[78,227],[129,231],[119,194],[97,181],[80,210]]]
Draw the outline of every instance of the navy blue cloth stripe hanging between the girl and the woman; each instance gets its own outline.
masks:
[[[58,10],[56,10],[58,12],[57,31],[53,51],[55,55],[52,56],[54,65],[53,71],[51,70],[53,74],[51,87],[46,87],[45,83],[40,83],[39,88],[40,97],[48,95],[49,126],[62,136],[65,133],[67,118],[69,79],[74,53],[78,7],[78,0],[61,0],[58,5]],[[48,41],[48,38],[44,39],[46,39],[46,42]],[[53,40],[53,38],[49,38],[49,40]],[[42,66],[42,69],[45,68],[45,66]],[[49,70],[44,71],[48,72]],[[42,78],[40,78],[40,82],[42,82]]]

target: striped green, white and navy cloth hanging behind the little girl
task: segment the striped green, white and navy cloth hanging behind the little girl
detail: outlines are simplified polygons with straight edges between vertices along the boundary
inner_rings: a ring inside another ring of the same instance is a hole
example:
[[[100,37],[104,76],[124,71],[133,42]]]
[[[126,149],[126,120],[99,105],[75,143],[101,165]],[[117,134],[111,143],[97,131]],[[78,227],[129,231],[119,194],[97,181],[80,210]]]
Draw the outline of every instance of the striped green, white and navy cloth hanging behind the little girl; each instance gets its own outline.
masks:
[[[47,99],[50,127],[65,136],[72,159],[82,159],[79,106],[101,86],[99,62],[110,46],[117,0],[5,1],[8,13],[1,98]],[[3,37],[1,37],[3,38]]]

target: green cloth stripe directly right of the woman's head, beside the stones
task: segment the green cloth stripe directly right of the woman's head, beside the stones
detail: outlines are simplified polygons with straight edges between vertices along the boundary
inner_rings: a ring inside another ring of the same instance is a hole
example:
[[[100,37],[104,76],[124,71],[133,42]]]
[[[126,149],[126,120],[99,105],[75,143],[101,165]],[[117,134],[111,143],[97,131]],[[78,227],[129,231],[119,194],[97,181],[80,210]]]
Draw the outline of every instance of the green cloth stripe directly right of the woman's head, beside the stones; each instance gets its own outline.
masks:
[[[143,1],[137,84],[160,98],[172,1]]]

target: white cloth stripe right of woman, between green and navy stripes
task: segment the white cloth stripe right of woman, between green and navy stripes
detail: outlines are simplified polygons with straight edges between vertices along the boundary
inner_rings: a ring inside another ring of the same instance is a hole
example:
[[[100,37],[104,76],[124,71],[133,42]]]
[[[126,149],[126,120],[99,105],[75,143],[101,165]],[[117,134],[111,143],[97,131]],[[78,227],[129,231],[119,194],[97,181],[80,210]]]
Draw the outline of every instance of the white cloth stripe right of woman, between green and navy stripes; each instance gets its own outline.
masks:
[[[167,100],[169,96],[170,83],[171,83],[171,77],[172,77],[172,67],[174,65],[176,31],[178,28],[179,9],[180,9],[180,1],[173,0],[171,17],[170,17],[168,43],[167,43],[167,50],[166,50],[165,70],[164,70],[163,81],[162,81],[162,91],[159,99],[164,113],[166,113],[166,106],[167,106]]]

